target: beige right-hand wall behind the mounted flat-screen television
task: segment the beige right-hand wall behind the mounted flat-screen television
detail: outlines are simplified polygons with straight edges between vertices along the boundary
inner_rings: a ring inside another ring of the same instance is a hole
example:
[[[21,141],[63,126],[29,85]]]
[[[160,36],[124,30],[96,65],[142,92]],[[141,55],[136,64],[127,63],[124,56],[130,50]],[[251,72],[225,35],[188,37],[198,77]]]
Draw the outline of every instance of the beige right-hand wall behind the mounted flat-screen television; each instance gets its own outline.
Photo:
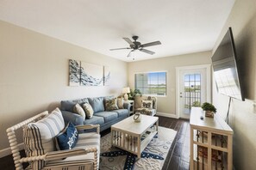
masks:
[[[242,89],[246,98],[246,101],[231,102],[230,124],[234,130],[234,168],[250,170],[256,167],[256,106],[253,106],[256,100],[256,1],[235,1],[217,44],[228,27],[233,29],[239,58],[238,65],[241,68]],[[217,94],[214,88],[213,102],[217,111],[225,118],[228,97]]]

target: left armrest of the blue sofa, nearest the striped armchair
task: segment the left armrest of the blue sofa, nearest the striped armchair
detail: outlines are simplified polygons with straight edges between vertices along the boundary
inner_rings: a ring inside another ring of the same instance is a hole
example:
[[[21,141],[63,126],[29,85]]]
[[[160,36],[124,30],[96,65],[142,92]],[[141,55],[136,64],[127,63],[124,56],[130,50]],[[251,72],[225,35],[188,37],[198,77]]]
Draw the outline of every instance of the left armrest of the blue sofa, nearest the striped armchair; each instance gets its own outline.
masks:
[[[66,124],[68,122],[72,122],[74,125],[83,125],[84,124],[84,118],[80,116],[79,114],[69,112],[69,111],[61,111],[62,116],[64,118],[64,121]]]

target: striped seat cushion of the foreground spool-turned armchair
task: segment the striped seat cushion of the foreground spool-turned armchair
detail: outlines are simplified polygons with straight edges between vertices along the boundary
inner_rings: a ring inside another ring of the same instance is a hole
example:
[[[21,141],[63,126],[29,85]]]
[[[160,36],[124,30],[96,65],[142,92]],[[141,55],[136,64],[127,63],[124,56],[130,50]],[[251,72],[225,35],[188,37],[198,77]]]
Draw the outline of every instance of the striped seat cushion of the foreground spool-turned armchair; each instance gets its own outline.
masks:
[[[99,154],[100,154],[100,135],[97,133],[82,133],[79,134],[78,137],[78,143],[74,147],[74,149],[86,149],[96,147],[97,152],[97,165],[99,164]],[[58,155],[56,155],[58,156]],[[66,169],[68,170],[80,170],[80,169],[92,169],[94,163],[94,154],[89,153],[87,155],[78,155],[78,156],[72,156],[72,157],[66,157],[64,160],[56,160],[56,161],[48,161],[46,164],[46,169],[54,169],[54,170],[60,170],[60,169]]]

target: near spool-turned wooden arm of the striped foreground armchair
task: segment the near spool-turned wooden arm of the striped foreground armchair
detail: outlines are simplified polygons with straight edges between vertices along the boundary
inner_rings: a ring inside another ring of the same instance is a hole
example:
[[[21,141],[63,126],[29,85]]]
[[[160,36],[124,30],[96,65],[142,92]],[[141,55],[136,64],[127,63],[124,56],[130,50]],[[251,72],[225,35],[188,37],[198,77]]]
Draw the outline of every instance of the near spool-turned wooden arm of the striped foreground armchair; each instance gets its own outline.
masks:
[[[66,157],[71,157],[76,155],[86,155],[91,152],[97,153],[97,148],[91,147],[86,149],[68,149],[68,150],[53,151],[53,152],[48,152],[45,155],[24,157],[20,160],[20,162],[40,161],[40,160],[53,161],[53,160],[60,160]]]

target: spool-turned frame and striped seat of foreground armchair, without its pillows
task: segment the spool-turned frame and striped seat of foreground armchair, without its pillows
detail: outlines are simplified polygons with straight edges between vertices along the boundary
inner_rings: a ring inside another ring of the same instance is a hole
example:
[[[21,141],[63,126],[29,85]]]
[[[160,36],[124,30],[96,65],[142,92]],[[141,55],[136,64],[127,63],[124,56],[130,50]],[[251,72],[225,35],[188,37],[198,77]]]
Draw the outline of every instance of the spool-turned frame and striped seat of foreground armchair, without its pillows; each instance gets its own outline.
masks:
[[[56,110],[56,109],[55,109]],[[58,112],[59,109],[57,110]],[[78,131],[94,129],[97,132],[83,133],[78,135],[78,143],[73,149],[48,151],[41,155],[28,155],[27,157],[21,158],[18,143],[16,140],[16,130],[23,128],[23,131],[28,124],[36,123],[38,120],[50,117],[48,112],[41,112],[33,118],[28,118],[22,123],[16,124],[8,128],[7,135],[9,138],[9,144],[12,151],[16,170],[23,169],[22,163],[29,162],[29,166],[26,169],[47,169],[47,170],[62,170],[62,169],[94,169],[97,170],[99,167],[99,147],[100,147],[100,135],[98,124],[87,124],[76,126]],[[61,115],[61,112],[60,114]],[[58,115],[58,116],[59,116]],[[53,119],[53,118],[52,118]],[[56,120],[53,120],[56,122]],[[61,120],[62,121],[62,120]],[[63,121],[64,123],[64,121]],[[53,122],[50,122],[50,127],[53,126]],[[26,137],[24,137],[24,148],[25,152],[28,152],[28,144],[26,143]],[[27,146],[26,146],[27,145]],[[47,149],[45,149],[47,150]],[[36,167],[34,165],[41,165]]]

